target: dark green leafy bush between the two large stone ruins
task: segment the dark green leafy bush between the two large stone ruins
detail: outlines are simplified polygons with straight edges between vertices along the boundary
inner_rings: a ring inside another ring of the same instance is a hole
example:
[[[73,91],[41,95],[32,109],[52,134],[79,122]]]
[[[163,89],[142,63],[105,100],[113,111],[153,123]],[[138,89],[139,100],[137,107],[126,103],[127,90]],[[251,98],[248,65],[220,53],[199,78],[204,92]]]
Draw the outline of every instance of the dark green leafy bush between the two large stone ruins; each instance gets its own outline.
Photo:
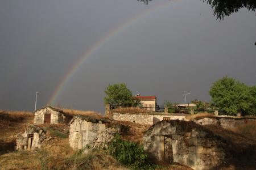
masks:
[[[157,167],[149,162],[148,156],[143,151],[143,145],[138,142],[123,141],[119,134],[115,135],[108,150],[110,155],[128,168],[155,169]]]

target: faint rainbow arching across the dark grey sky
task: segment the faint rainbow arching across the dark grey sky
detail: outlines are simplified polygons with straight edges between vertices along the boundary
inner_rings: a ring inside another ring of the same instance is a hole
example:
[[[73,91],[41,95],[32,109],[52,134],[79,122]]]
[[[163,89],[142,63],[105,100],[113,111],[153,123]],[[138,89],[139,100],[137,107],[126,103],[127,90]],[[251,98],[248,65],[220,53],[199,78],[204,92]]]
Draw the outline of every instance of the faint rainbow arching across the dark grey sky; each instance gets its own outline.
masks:
[[[171,1],[171,2],[174,2],[174,1]],[[59,84],[55,88],[55,91],[53,91],[53,94],[49,98],[47,104],[48,105],[54,105],[55,104],[56,99],[58,98],[58,96],[63,91],[65,85],[71,80],[73,74],[75,74],[76,71],[79,70],[79,67],[82,66],[82,63],[84,63],[86,58],[92,56],[92,54],[94,52],[96,52],[98,49],[100,49],[101,46],[103,46],[107,41],[112,39],[114,36],[118,35],[118,33],[122,32],[125,28],[129,27],[130,25],[133,25],[135,22],[138,22],[139,20],[145,18],[147,15],[150,15],[153,12],[159,11],[163,8],[167,8],[168,6],[171,5],[171,2],[167,1],[165,3],[162,3],[158,6],[156,6],[155,8],[152,8],[150,10],[146,10],[146,11],[142,12],[142,14],[139,14],[135,18],[132,18],[132,19],[128,20],[127,22],[125,22],[121,25],[118,25],[117,28],[113,29],[107,35],[102,37],[96,44],[94,44],[88,51],[86,51],[85,54],[77,62],[75,62],[72,65],[71,69],[69,69],[67,74],[65,74],[63,79],[61,79],[61,81],[59,82]]]

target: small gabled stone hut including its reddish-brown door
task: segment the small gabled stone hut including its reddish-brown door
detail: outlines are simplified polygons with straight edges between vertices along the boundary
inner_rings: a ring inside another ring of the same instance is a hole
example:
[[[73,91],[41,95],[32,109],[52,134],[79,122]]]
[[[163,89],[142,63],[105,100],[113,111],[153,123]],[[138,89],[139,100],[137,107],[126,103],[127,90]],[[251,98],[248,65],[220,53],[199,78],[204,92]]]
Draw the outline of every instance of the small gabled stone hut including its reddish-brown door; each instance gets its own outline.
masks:
[[[71,116],[60,109],[45,107],[35,112],[34,124],[60,124],[68,123],[70,120]]]

